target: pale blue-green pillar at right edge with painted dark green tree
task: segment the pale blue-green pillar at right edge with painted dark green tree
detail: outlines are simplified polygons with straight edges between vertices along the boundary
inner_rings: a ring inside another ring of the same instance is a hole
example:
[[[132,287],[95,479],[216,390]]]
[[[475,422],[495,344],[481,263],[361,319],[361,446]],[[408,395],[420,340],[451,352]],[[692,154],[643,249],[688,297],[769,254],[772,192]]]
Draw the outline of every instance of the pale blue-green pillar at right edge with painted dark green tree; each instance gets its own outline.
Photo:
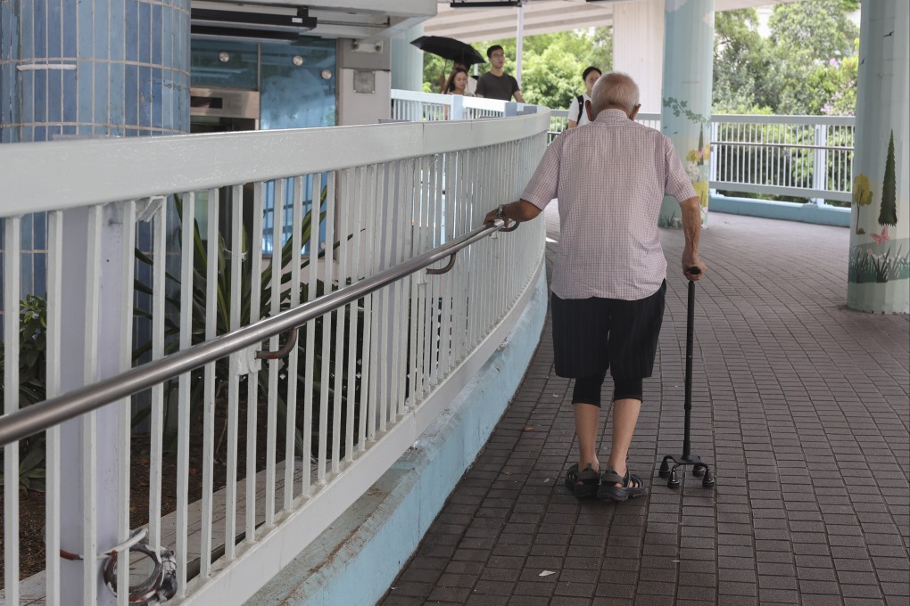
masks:
[[[864,312],[910,313],[908,20],[906,0],[863,3],[847,305]]]

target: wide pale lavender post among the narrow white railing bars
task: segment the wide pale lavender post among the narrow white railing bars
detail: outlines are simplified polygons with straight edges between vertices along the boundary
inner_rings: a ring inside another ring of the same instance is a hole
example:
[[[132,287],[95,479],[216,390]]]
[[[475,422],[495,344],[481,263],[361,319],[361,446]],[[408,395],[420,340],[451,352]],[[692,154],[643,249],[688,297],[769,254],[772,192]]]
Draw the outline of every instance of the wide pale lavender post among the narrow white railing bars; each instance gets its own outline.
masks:
[[[129,338],[120,333],[122,308],[123,224],[116,204],[66,211],[63,220],[60,326],[60,392],[112,376]],[[74,601],[113,605],[99,574],[96,553],[126,539],[117,537],[119,467],[128,464],[117,439],[119,406],[64,422],[60,428],[60,548],[85,561],[62,561],[60,583]],[[128,447],[127,447],[128,449]]]

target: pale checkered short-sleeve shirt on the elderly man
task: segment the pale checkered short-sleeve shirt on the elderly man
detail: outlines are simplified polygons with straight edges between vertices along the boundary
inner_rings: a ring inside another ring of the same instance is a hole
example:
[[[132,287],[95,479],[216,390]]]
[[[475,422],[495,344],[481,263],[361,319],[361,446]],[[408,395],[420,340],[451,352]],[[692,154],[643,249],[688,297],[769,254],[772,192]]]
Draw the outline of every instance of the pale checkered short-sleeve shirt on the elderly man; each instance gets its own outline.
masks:
[[[521,194],[541,210],[560,201],[553,293],[624,301],[656,293],[667,273],[657,228],[664,194],[697,195],[670,138],[622,110],[557,137]]]

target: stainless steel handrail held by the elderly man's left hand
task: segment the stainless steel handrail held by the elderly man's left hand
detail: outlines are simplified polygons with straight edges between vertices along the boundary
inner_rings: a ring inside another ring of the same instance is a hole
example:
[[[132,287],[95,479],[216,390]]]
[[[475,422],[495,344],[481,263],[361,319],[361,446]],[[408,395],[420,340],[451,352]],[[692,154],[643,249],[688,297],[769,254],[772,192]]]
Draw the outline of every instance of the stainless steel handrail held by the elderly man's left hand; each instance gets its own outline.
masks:
[[[206,343],[199,343],[180,352],[168,354],[103,381],[5,414],[0,417],[0,446],[22,440],[33,433],[43,432],[58,423],[68,421],[86,412],[92,412],[159,382],[167,381],[167,379],[215,362],[231,353],[237,353],[251,345],[261,343],[276,334],[301,326],[323,313],[329,313],[342,305],[356,301],[360,297],[436,263],[452,253],[457,253],[470,244],[496,233],[504,225],[504,222],[498,219],[492,224],[485,224],[450,243],[434,248],[429,253],[423,253],[405,263],[389,267],[366,280],[340,288],[316,301],[288,309],[233,333],[223,334]]]

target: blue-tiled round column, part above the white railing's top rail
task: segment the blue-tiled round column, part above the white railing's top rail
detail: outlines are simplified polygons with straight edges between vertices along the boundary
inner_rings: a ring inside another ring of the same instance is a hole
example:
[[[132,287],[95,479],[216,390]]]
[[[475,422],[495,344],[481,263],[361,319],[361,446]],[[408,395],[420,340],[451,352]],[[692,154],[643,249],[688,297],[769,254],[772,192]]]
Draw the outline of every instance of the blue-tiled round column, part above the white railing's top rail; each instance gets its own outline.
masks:
[[[0,142],[189,132],[189,0],[7,0],[0,23]]]

